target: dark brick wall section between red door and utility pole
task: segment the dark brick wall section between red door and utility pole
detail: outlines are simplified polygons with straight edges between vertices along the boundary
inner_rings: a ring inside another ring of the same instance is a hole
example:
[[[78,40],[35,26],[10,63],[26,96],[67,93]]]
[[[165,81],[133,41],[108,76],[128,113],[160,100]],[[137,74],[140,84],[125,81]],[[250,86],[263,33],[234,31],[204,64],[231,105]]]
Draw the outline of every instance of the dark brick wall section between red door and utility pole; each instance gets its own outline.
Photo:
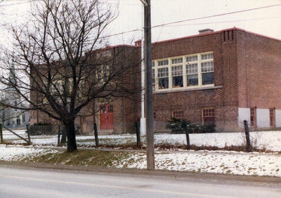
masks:
[[[124,89],[129,92],[123,98],[115,98],[112,102],[114,108],[113,130],[100,130],[100,132],[136,133],[135,121],[141,117],[141,48],[122,46],[117,50],[122,57],[119,64],[126,64],[130,67],[129,72],[119,78],[124,81]]]

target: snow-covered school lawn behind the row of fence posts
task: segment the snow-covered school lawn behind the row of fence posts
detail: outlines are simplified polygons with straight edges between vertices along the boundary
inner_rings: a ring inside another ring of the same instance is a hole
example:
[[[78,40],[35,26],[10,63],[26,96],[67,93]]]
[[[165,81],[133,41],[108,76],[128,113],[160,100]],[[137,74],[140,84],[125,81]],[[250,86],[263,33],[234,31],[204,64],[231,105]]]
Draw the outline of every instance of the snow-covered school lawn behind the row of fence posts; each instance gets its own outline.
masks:
[[[21,134],[27,136],[24,131]],[[265,148],[275,152],[281,151],[281,131],[259,131],[250,132],[251,144],[259,149]],[[34,145],[57,145],[58,136],[31,136]],[[25,143],[11,133],[4,133],[4,140],[13,143]],[[145,143],[145,137],[141,137],[141,142]],[[126,145],[136,143],[136,134],[99,136],[101,145]],[[155,144],[169,143],[171,145],[186,144],[185,134],[155,134]],[[244,133],[204,133],[190,134],[190,144],[197,146],[240,146],[245,145]],[[94,136],[77,136],[78,146],[94,146]]]

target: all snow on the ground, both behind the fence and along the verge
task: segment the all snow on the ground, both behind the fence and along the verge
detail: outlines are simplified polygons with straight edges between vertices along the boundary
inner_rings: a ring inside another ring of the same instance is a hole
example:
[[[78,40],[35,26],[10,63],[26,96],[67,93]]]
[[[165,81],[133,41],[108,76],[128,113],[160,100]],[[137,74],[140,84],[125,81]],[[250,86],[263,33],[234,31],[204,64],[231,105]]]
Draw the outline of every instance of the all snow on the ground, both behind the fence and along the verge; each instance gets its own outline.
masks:
[[[25,131],[18,131],[27,137]],[[266,150],[281,151],[281,131],[250,132],[252,145]],[[31,136],[34,147],[17,147],[15,145],[0,145],[0,161],[17,161],[25,157],[37,156],[55,149],[43,149],[41,145],[56,145],[57,136]],[[201,146],[225,147],[230,145],[244,145],[244,133],[205,133],[190,134],[190,143]],[[4,140],[12,143],[25,143],[8,131],[4,131]],[[145,143],[145,137],[141,137]],[[185,134],[155,134],[155,144],[169,143],[183,145]],[[136,143],[135,134],[99,136],[100,144],[122,145]],[[94,136],[77,136],[77,145],[94,146]],[[118,168],[146,168],[146,155],[143,152],[131,152],[131,156],[124,161],[116,161]],[[244,152],[156,152],[156,169],[174,171],[194,171],[206,173],[228,173],[238,175],[278,176],[281,177],[281,154],[259,154]]]

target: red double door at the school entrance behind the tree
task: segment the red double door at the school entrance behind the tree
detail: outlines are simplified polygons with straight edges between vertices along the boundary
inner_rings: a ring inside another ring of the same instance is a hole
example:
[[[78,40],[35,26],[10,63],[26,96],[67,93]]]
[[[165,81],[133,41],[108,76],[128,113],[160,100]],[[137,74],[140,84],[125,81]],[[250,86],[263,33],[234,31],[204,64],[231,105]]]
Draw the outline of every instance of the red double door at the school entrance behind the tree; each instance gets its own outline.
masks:
[[[100,105],[100,129],[113,129],[113,105]]]

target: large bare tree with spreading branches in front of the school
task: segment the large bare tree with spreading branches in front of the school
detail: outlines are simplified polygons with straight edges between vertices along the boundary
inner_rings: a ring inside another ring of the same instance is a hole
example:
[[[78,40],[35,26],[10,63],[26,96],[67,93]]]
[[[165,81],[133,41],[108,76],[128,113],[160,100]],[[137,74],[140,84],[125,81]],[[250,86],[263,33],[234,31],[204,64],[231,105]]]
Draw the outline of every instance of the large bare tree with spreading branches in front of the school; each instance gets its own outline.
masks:
[[[25,110],[62,122],[67,152],[72,152],[77,150],[75,118],[94,114],[96,109],[85,109],[99,98],[129,97],[136,91],[129,81],[136,71],[129,64],[136,49],[100,49],[105,41],[101,35],[116,15],[98,0],[44,0],[36,5],[27,25],[11,27],[15,42],[2,58],[6,72],[0,81],[30,104]],[[8,65],[11,59],[15,68]],[[13,78],[7,75],[12,70],[18,71]]]

